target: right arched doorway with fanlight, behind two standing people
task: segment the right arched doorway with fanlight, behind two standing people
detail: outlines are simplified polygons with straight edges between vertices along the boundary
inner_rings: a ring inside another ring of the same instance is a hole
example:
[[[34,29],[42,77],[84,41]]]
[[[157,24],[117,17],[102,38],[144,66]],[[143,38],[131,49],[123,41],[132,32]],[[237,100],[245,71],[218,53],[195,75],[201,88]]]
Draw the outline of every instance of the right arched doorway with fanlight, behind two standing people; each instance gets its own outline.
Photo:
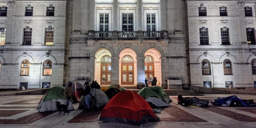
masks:
[[[151,56],[145,57],[145,78],[147,78],[147,80],[154,78],[154,59]],[[150,81],[148,81],[148,83],[151,84]]]

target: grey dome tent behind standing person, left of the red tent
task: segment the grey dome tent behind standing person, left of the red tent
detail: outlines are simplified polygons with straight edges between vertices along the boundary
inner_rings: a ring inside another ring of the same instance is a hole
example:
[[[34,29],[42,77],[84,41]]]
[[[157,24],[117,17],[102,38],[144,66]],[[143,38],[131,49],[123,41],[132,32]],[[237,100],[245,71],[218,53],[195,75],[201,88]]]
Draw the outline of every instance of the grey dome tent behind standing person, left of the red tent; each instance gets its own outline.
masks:
[[[93,107],[99,108],[99,107],[105,106],[109,102],[108,96],[103,91],[101,91],[99,89],[95,89],[95,88],[91,89],[90,94],[92,96],[92,98],[90,98],[91,108],[93,108]],[[94,100],[95,100],[95,102],[94,102]],[[84,106],[86,106],[86,103],[85,103],[84,97],[82,96],[81,101],[79,103],[79,108],[84,107]]]

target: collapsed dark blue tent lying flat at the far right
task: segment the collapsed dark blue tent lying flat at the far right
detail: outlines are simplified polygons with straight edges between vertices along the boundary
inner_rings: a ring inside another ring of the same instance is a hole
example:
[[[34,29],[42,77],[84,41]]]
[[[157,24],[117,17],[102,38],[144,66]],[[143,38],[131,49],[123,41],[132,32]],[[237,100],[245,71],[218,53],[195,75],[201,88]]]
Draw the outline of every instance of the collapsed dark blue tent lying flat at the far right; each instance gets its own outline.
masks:
[[[236,95],[232,95],[229,97],[222,97],[213,99],[211,101],[213,105],[217,106],[233,106],[233,107],[249,107],[249,106],[256,106],[256,103],[253,101],[244,101],[241,98],[237,97]]]

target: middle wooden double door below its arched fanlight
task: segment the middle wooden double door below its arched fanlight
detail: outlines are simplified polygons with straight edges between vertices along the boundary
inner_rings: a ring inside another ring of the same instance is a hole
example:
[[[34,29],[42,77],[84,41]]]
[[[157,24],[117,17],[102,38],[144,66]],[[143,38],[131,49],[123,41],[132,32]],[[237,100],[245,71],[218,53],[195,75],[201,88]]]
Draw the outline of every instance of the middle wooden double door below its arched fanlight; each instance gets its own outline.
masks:
[[[133,63],[122,63],[121,84],[134,84]]]

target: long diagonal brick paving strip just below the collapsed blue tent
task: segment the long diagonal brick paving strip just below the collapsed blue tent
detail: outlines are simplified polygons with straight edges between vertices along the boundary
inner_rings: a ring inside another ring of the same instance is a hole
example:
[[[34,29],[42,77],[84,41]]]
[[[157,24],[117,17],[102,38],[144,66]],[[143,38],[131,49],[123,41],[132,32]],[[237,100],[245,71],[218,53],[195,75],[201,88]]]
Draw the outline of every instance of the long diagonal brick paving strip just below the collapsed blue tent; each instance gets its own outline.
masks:
[[[232,112],[232,111],[229,111],[229,110],[221,109],[219,107],[209,106],[209,107],[202,107],[202,108],[206,109],[206,110],[209,110],[211,112],[214,112],[214,113],[221,114],[223,116],[233,118],[233,119],[238,120],[238,121],[256,122],[255,117],[246,116],[244,114],[240,114],[240,113]]]

